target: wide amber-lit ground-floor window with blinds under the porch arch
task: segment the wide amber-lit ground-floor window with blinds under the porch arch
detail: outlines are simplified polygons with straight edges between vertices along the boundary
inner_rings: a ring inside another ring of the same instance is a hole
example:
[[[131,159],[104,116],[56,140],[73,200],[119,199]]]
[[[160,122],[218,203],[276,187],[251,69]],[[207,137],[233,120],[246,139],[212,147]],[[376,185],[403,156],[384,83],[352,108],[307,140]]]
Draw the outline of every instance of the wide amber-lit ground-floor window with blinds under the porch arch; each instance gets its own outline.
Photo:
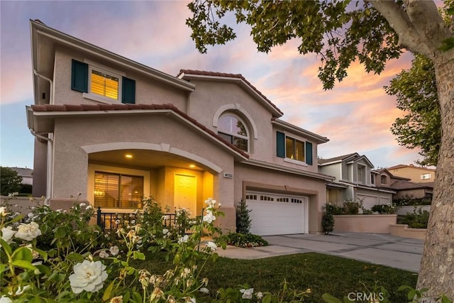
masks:
[[[143,177],[94,173],[94,205],[101,208],[140,209],[143,198]]]

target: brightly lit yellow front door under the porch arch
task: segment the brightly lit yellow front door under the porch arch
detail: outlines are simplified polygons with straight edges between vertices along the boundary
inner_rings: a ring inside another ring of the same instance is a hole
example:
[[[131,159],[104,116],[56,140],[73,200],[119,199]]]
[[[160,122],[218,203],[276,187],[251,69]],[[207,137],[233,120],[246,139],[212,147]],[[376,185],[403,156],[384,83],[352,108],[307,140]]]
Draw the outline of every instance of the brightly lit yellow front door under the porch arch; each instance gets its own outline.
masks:
[[[177,208],[184,207],[196,216],[196,177],[189,175],[175,174],[174,205]]]

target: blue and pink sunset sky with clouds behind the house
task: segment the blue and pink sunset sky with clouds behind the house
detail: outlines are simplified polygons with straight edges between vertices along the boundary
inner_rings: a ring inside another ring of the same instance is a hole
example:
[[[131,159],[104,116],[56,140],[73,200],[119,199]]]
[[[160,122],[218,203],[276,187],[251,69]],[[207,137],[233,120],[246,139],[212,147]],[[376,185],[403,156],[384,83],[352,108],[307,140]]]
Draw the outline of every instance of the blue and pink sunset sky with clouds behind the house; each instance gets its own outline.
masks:
[[[382,88],[411,55],[389,62],[381,75],[352,65],[348,78],[323,91],[315,55],[301,56],[297,41],[258,53],[247,26],[238,38],[199,54],[187,1],[0,1],[0,165],[33,168],[33,136],[25,106],[33,103],[30,19],[176,76],[180,69],[242,74],[284,112],[282,119],[330,139],[319,156],[366,155],[375,167],[411,164],[417,150],[397,144],[389,131],[402,116]]]

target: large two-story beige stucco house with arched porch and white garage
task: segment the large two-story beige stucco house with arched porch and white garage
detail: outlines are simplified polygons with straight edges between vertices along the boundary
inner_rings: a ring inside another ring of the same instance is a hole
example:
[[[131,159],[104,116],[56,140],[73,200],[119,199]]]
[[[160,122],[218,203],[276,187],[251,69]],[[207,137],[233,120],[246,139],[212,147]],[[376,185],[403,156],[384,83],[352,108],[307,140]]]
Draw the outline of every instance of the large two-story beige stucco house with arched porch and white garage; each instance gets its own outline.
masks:
[[[194,215],[213,197],[231,230],[245,199],[253,233],[321,233],[333,177],[318,171],[317,149],[328,138],[279,119],[243,76],[172,77],[38,21],[31,42],[34,196],[67,208],[80,193],[125,212],[153,196]]]

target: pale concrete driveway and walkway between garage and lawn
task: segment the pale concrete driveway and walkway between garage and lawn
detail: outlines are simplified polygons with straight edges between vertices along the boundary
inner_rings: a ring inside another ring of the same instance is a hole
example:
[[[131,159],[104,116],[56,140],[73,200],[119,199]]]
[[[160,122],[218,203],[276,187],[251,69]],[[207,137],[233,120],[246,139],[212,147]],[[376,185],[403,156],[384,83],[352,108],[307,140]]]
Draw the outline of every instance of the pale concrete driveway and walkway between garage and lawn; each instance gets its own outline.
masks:
[[[419,272],[423,240],[382,233],[333,233],[325,235],[263,236],[268,246],[218,249],[226,258],[259,259],[294,253],[326,253]]]

